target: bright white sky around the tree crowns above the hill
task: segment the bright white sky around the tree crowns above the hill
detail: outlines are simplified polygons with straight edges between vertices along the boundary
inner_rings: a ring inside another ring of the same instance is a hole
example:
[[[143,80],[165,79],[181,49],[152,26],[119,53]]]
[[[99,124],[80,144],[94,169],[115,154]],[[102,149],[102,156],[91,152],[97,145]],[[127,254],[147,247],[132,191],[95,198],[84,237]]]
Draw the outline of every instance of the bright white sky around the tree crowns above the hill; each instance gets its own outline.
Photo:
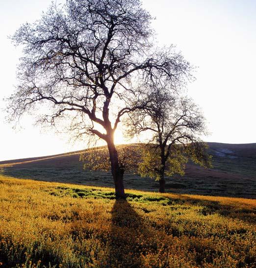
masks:
[[[15,81],[21,56],[7,39],[25,22],[40,18],[51,0],[0,0],[0,108]],[[153,23],[159,45],[175,44],[198,66],[197,81],[188,93],[202,107],[211,135],[208,142],[256,142],[256,1],[255,0],[144,0],[156,17]],[[68,143],[33,126],[31,118],[15,131],[0,113],[0,161],[43,156],[86,147]],[[48,132],[47,132],[48,131]],[[123,142],[119,131],[117,142]]]

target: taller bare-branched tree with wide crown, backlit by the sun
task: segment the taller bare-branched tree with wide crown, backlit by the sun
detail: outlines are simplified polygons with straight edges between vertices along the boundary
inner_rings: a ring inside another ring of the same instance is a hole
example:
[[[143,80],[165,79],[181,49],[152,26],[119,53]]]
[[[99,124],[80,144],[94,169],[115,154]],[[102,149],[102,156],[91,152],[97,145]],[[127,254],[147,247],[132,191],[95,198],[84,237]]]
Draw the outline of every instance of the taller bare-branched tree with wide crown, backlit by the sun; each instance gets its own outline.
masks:
[[[80,135],[107,144],[116,195],[124,197],[114,132],[145,83],[177,88],[191,66],[173,47],[154,47],[151,15],[140,0],[67,0],[52,4],[12,40],[23,48],[19,85],[9,98],[11,119],[48,103],[40,120],[70,119]],[[140,102],[143,105],[143,102]]]

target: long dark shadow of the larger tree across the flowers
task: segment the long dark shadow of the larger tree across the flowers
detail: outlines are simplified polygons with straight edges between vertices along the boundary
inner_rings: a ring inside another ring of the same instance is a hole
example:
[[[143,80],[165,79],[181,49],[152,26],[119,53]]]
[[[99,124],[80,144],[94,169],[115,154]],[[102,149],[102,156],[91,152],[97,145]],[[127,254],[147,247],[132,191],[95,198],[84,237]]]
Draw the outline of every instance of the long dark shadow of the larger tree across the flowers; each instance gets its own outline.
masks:
[[[107,267],[143,267],[141,242],[147,241],[143,219],[126,200],[115,200],[111,211]]]

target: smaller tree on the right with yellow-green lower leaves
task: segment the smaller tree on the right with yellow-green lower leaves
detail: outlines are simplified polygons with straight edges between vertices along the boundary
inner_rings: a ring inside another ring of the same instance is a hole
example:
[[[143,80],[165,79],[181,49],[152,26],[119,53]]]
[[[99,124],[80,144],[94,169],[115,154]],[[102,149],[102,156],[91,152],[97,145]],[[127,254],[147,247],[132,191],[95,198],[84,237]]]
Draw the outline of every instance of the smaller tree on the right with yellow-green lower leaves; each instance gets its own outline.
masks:
[[[165,175],[183,175],[189,159],[203,167],[211,166],[207,145],[200,139],[206,132],[205,119],[190,98],[171,95],[163,88],[153,87],[145,98],[147,107],[129,115],[127,133],[152,133],[138,171],[159,180],[159,192],[164,193]]]

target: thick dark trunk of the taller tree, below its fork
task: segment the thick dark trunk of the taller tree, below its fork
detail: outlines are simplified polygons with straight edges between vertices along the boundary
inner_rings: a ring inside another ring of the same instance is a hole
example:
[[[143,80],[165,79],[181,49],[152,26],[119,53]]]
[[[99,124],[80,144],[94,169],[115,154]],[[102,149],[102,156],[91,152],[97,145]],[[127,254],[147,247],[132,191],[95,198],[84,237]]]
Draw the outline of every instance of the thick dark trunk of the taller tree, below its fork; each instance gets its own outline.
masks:
[[[126,198],[124,187],[124,170],[120,167],[118,154],[113,142],[107,143],[111,172],[115,183],[115,194],[119,198]]]

